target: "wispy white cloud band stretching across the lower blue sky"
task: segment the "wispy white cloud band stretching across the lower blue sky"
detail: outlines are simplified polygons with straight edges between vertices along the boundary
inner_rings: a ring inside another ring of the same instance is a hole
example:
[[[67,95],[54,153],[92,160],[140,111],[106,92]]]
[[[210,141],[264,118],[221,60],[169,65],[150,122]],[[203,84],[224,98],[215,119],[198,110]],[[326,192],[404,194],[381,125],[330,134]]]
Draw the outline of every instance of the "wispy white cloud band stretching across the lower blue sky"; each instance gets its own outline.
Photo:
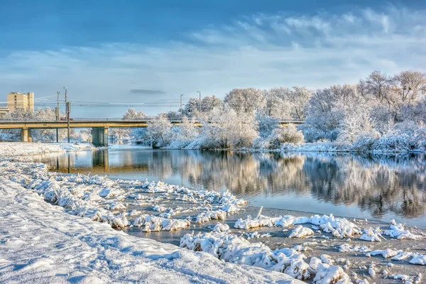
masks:
[[[257,14],[158,46],[17,50],[0,58],[0,92],[41,96],[67,85],[75,100],[141,102],[129,89],[161,89],[174,101],[181,93],[196,97],[199,89],[223,97],[234,87],[355,83],[373,70],[424,70],[423,16],[425,11],[393,7],[339,15]]]

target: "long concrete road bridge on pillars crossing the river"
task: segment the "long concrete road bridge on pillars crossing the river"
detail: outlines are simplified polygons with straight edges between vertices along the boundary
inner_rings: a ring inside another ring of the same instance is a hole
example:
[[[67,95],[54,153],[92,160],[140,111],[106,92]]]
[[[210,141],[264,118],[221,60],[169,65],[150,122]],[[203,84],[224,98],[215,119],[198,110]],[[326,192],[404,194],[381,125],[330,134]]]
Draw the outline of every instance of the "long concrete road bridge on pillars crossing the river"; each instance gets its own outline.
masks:
[[[143,119],[116,119],[116,118],[77,118],[70,119],[70,128],[74,129],[92,129],[92,143],[94,146],[108,146],[108,129],[116,127],[148,127],[148,124],[155,120],[153,116],[147,116]],[[180,118],[168,119],[171,124],[182,124]],[[202,126],[203,123],[214,123],[216,121],[192,121],[195,126]],[[281,126],[288,124],[302,124],[302,119],[280,119]],[[21,141],[31,141],[31,129],[67,129],[68,124],[65,120],[46,120],[46,119],[0,119],[0,129],[21,129]]]

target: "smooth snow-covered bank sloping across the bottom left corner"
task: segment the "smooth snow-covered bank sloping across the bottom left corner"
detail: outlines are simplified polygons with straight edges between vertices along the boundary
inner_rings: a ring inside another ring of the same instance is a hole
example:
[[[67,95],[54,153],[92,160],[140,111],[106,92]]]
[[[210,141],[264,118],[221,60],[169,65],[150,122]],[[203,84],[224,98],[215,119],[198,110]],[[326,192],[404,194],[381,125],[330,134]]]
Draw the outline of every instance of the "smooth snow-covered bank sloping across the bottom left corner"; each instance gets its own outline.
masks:
[[[0,178],[1,283],[300,283],[67,214]]]

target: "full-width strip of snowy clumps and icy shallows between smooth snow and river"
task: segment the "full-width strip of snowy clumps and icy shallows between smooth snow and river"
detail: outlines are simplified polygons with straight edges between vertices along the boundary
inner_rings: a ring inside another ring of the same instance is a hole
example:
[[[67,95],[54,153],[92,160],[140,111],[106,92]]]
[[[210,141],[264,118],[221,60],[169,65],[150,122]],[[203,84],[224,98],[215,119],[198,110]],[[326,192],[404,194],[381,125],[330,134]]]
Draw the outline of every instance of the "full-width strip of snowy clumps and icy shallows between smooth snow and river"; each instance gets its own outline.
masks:
[[[5,213],[8,216],[10,214],[7,212],[12,210],[13,206],[25,203],[20,201],[22,196],[18,197],[18,200],[10,198],[9,194],[17,192],[17,190],[8,182],[16,181],[26,187],[20,189],[23,194],[26,192],[27,195],[35,198],[33,192],[37,192],[40,202],[43,202],[41,198],[43,197],[45,200],[65,207],[64,210],[55,207],[55,210],[72,214],[69,217],[74,220],[73,222],[78,219],[99,224],[89,221],[88,218],[75,217],[74,215],[77,214],[102,222],[100,223],[102,231],[104,225],[109,224],[107,230],[111,230],[111,226],[121,227],[129,234],[140,236],[141,238],[136,239],[141,241],[149,242],[151,240],[145,239],[146,237],[156,239],[158,236],[158,239],[162,242],[180,244],[187,249],[205,251],[223,261],[250,266],[250,268],[245,266],[244,270],[250,269],[251,271],[251,268],[255,267],[266,268],[266,270],[261,270],[263,272],[256,272],[261,273],[261,277],[264,277],[265,273],[268,274],[270,270],[278,270],[285,271],[293,277],[306,278],[308,283],[329,283],[321,282],[329,273],[334,276],[337,275],[336,277],[340,277],[342,280],[346,279],[346,282],[342,283],[349,283],[348,279],[354,282],[359,280],[358,283],[367,283],[366,281],[395,283],[399,278],[401,279],[399,280],[400,283],[403,283],[403,281],[405,283],[421,283],[422,278],[419,272],[425,273],[425,266],[410,263],[421,264],[422,259],[425,258],[426,244],[424,238],[426,232],[424,230],[398,224],[391,224],[390,226],[377,222],[365,222],[359,219],[349,221],[331,216],[310,217],[311,214],[274,209],[263,209],[262,214],[256,218],[258,208],[246,207],[243,202],[232,202],[235,197],[231,195],[189,190],[166,185],[162,182],[114,181],[108,178],[89,178],[84,175],[64,176],[58,173],[48,173],[45,165],[42,164],[8,161],[2,163],[1,166],[4,179],[9,180],[2,180],[2,183],[4,187],[11,187],[11,190],[5,191],[9,193],[3,199],[3,202],[8,201],[2,204],[9,206],[10,209],[6,209]],[[223,199],[223,197],[226,197],[226,199]],[[33,204],[33,201],[28,204]],[[231,204],[235,206],[233,207]],[[33,204],[30,206],[38,208],[41,205]],[[54,206],[50,204],[48,206],[50,206],[48,209],[43,210],[53,214],[53,217],[58,217],[56,212],[50,211]],[[34,215],[34,212],[31,215]],[[248,215],[251,215],[252,218]],[[222,225],[217,229],[214,228],[217,222],[212,219],[222,219]],[[6,222],[10,223],[9,218],[6,219]],[[46,217],[41,223],[49,224],[50,221]],[[226,228],[225,225],[228,225],[231,229]],[[7,227],[7,223],[1,224],[1,226]],[[55,229],[56,226],[59,226],[59,224],[53,224],[51,228]],[[234,228],[235,226],[236,228]],[[296,238],[290,237],[299,226],[305,228],[302,229],[302,231],[305,231],[305,236],[298,234]],[[393,229],[392,226],[394,226]],[[350,231],[348,228],[351,228]],[[67,228],[62,229],[62,233],[67,234],[65,232]],[[307,229],[312,230],[313,234]],[[90,235],[96,233],[92,233],[92,229],[85,230],[84,238],[88,238],[92,242],[93,238]],[[196,230],[196,233],[192,234],[192,230]],[[147,233],[147,231],[151,232]],[[386,231],[390,235],[386,234]],[[200,234],[197,235],[197,232]],[[346,233],[342,234],[343,232]],[[70,236],[72,234],[74,233],[68,233]],[[28,233],[28,235],[30,234]],[[398,239],[400,235],[405,237]],[[169,239],[161,236],[169,236]],[[105,238],[111,239],[111,236]],[[373,241],[366,241],[366,238]],[[179,243],[178,239],[180,240]],[[129,243],[128,240],[126,241]],[[211,243],[212,241],[213,243]],[[261,241],[261,243],[258,243],[258,241]],[[196,244],[204,245],[198,246]],[[99,244],[99,246],[105,247],[105,244]],[[151,246],[151,243],[149,246]],[[168,247],[169,245],[165,244],[165,246]],[[55,244],[53,244],[53,247],[55,247]],[[178,250],[176,246],[174,248]],[[216,249],[212,250],[213,248]],[[222,253],[218,255],[215,252],[217,249]],[[283,254],[277,254],[277,251],[274,251],[275,249],[279,249],[278,252],[281,251]],[[120,247],[119,250],[126,251],[124,247]],[[13,251],[9,252],[12,253]],[[186,253],[189,253],[189,251],[186,251]],[[149,251],[142,254],[149,254]],[[160,256],[160,258],[163,257],[163,260],[170,258],[168,253],[166,254],[167,256]],[[376,254],[381,256],[375,256]],[[188,257],[190,256],[195,257],[188,255]],[[204,257],[205,254],[202,253],[202,256]],[[259,262],[259,257],[262,259],[266,257],[268,262]],[[104,259],[104,256],[101,258]],[[390,261],[389,258],[393,259]],[[243,259],[245,261],[241,261]],[[98,262],[98,260],[93,259],[88,262],[93,261]],[[114,263],[114,259],[109,259],[109,261]],[[182,260],[182,263],[185,263],[185,261],[187,260]],[[196,261],[204,261],[204,259],[197,259]],[[11,262],[13,263],[13,261]],[[167,265],[174,266],[173,261],[170,264],[169,262],[166,261]],[[321,266],[318,268],[320,263]],[[388,263],[391,264],[388,265]],[[119,267],[122,269],[122,266]],[[13,272],[10,273],[13,274]],[[320,276],[317,278],[317,275]],[[324,275],[324,277],[321,275]],[[11,277],[16,277],[16,274]],[[229,278],[228,282],[236,282],[232,279],[234,278]],[[412,282],[408,282],[409,280]],[[261,281],[263,280],[258,282]]]

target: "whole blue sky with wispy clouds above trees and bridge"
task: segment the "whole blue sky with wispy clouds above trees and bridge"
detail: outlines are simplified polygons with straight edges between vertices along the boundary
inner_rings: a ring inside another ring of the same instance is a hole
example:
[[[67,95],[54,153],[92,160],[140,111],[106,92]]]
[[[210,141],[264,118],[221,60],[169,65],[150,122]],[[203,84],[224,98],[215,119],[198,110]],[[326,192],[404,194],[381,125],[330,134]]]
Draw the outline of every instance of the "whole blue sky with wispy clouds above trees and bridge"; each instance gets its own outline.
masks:
[[[0,0],[0,104],[34,92],[55,107],[67,87],[74,117],[153,115],[197,91],[425,72],[424,18],[418,0]]]

